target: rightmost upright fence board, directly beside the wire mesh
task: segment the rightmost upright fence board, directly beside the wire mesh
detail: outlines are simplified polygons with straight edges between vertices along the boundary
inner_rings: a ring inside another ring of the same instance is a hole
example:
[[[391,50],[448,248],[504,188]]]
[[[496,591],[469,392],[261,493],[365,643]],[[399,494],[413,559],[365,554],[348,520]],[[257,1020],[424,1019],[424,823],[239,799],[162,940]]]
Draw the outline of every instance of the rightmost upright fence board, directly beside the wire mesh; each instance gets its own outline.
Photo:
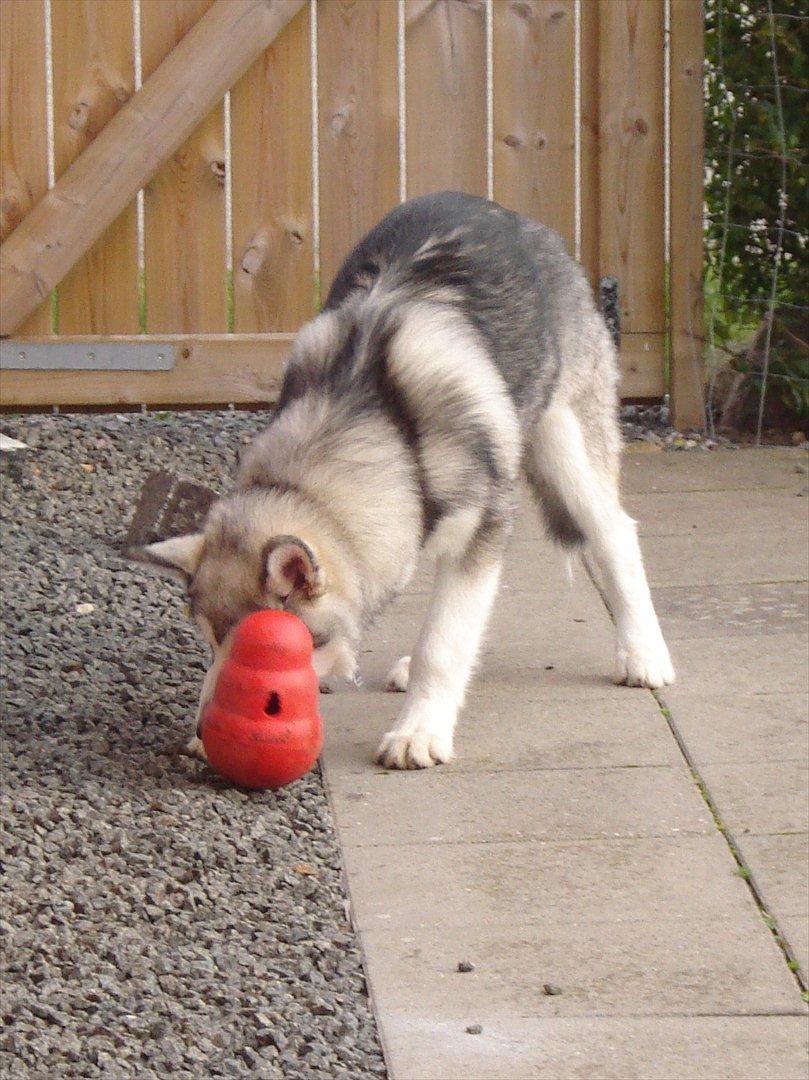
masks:
[[[682,429],[702,428],[702,4],[671,9],[671,403]]]

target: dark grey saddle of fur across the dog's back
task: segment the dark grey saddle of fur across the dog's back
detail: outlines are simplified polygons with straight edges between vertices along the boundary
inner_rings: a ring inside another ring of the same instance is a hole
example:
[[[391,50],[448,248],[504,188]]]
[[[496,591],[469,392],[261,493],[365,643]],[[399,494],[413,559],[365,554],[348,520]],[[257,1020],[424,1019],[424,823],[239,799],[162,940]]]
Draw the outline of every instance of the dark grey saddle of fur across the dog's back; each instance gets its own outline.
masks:
[[[602,343],[602,318],[562,238],[476,195],[444,191],[391,211],[343,262],[325,310],[380,282],[400,297],[460,311],[524,422],[536,419],[561,377],[575,378],[585,363],[588,350],[570,338],[586,340],[590,332]]]

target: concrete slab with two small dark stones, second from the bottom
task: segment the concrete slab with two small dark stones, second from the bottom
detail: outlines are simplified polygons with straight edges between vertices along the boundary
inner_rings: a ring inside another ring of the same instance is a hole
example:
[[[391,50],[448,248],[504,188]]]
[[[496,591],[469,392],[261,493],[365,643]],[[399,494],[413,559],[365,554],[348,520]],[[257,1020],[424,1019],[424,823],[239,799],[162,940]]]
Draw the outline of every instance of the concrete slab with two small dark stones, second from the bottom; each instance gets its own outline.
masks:
[[[710,930],[665,916],[571,926],[575,932],[521,923],[365,931],[368,976],[405,1015],[484,1030],[513,1017],[787,1015],[803,1008],[772,935],[734,918],[717,918]],[[458,961],[475,956],[475,971],[459,973]],[[551,997],[545,985],[562,993]]]

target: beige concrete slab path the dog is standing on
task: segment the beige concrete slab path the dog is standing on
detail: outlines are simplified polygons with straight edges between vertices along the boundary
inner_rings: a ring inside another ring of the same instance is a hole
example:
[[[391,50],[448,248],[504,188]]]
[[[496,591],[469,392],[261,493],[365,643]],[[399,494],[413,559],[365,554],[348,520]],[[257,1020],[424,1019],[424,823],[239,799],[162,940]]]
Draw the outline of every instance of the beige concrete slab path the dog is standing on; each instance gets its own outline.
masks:
[[[526,504],[453,765],[369,764],[426,594],[324,701],[393,1080],[807,1076],[805,462],[628,453],[679,673],[659,700],[610,685],[601,602]]]

